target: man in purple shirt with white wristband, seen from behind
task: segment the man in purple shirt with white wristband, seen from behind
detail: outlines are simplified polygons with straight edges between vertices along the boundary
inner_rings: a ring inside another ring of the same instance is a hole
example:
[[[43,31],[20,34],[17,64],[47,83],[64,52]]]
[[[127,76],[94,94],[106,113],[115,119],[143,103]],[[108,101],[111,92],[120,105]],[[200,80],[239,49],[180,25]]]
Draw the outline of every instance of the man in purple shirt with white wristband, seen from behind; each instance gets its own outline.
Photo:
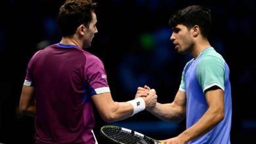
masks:
[[[104,64],[83,50],[98,32],[95,7],[91,0],[67,0],[57,18],[60,43],[37,51],[28,63],[20,111],[35,117],[35,143],[97,143],[93,104],[106,122],[156,104],[154,90],[127,102],[112,99]]]

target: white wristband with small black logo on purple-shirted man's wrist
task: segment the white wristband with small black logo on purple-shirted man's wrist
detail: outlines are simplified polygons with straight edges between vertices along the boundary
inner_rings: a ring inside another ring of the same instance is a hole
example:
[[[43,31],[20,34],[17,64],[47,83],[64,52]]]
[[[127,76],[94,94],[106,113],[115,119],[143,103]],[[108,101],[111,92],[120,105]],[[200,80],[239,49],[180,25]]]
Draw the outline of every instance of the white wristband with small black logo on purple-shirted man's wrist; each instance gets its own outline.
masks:
[[[131,105],[133,105],[133,115],[139,113],[140,111],[144,111],[144,109],[146,108],[146,103],[144,101],[144,99],[142,98],[136,98],[133,99],[131,101],[127,101],[128,103],[131,103]],[[131,116],[133,116],[131,115]]]

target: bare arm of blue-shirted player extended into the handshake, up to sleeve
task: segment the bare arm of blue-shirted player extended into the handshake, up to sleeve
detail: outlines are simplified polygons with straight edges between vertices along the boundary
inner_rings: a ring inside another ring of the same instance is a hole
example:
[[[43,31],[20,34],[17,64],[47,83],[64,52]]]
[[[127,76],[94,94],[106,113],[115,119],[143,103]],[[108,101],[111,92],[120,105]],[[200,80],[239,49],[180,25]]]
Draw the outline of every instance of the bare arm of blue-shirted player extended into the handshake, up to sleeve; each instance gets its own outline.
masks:
[[[147,110],[161,120],[179,122],[186,116],[186,95],[179,90],[172,103],[156,103]]]

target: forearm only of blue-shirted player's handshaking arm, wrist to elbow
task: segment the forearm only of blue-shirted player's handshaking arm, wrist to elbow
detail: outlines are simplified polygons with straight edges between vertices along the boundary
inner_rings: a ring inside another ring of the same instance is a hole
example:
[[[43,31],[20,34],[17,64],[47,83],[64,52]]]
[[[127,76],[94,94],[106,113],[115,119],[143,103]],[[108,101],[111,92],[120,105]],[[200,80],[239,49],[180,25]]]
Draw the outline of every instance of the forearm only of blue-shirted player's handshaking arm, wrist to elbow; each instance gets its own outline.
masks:
[[[175,107],[173,103],[156,103],[155,107],[147,110],[161,120],[168,122],[180,122],[186,113],[182,107]]]

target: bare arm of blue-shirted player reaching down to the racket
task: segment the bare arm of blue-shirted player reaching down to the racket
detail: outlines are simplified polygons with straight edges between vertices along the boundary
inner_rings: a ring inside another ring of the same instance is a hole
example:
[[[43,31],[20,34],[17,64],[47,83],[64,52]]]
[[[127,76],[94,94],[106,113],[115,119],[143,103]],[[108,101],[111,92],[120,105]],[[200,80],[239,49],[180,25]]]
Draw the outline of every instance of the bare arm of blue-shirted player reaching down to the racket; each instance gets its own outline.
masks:
[[[209,132],[211,128],[216,126],[224,118],[224,94],[223,90],[209,90],[205,94],[206,101],[209,108],[205,112],[202,118],[196,122],[193,126],[182,132],[177,137],[167,139],[166,143],[185,143],[200,137],[200,135]]]

